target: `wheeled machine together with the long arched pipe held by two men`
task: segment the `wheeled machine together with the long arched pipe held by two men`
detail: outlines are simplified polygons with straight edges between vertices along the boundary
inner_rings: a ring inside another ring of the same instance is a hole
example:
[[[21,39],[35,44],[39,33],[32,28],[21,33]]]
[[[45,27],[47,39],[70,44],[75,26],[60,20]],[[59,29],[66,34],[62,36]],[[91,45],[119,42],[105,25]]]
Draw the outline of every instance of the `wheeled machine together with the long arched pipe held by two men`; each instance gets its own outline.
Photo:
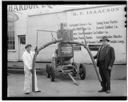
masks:
[[[52,34],[52,32],[55,32],[55,31],[48,31],[48,30],[38,30],[38,31],[51,32],[51,34]],[[37,39],[38,39],[38,31],[37,31]],[[57,40],[55,39],[54,41],[50,41],[46,44],[43,44],[40,48],[38,48],[36,46],[35,55],[33,57],[33,63],[32,63],[32,70],[33,70],[32,71],[32,91],[35,92],[35,84],[34,84],[35,78],[34,77],[35,77],[35,62],[36,62],[37,55],[44,48],[46,48],[52,44],[57,44],[57,43],[58,43],[58,48],[56,51],[57,55],[55,58],[52,59],[51,64],[46,65],[46,72],[47,72],[48,78],[51,77],[51,81],[55,80],[55,72],[62,72],[64,74],[69,75],[69,77],[73,80],[75,85],[78,85],[78,83],[76,82],[76,80],[74,79],[73,76],[76,76],[79,74],[79,76],[82,80],[85,79],[85,77],[86,77],[85,66],[83,64],[80,64],[78,67],[78,65],[76,65],[74,60],[72,60],[74,58],[73,44],[76,44],[76,45],[83,46],[87,50],[87,52],[92,60],[92,64],[94,66],[97,78],[98,78],[99,82],[101,82],[101,77],[97,70],[97,66],[96,66],[94,58],[91,54],[91,51],[89,50],[89,48],[87,46],[86,40],[85,40],[85,44],[73,41],[72,31],[68,30],[68,29],[64,29],[63,24],[61,24],[61,29],[55,33],[57,33],[57,37],[58,37]],[[83,34],[84,34],[84,29],[83,29]],[[85,35],[84,35],[84,38],[85,38]],[[38,40],[37,40],[37,42],[38,42]]]

